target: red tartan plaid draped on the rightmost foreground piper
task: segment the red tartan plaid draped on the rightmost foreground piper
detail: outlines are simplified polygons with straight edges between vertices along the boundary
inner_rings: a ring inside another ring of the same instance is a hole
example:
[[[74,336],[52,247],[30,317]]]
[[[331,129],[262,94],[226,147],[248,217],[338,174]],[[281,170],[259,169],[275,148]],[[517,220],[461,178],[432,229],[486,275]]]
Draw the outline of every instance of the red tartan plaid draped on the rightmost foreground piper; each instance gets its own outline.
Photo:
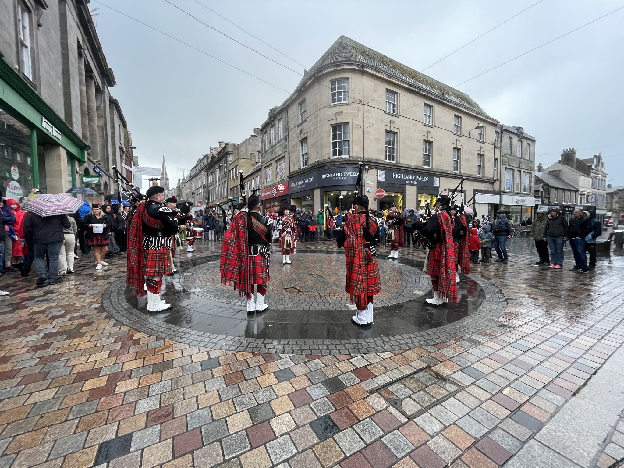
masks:
[[[453,244],[453,222],[447,212],[437,213],[437,222],[442,230],[441,240],[429,256],[427,273],[437,273],[437,293],[450,302],[457,302],[457,283],[455,273],[455,246]]]

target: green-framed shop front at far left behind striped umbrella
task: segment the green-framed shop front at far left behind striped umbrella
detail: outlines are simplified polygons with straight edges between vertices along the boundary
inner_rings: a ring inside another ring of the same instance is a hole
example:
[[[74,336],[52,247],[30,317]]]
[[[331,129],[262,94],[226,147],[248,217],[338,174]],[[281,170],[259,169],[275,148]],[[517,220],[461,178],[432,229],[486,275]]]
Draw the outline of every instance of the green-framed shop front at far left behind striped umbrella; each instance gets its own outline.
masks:
[[[65,192],[88,145],[0,58],[0,184],[18,199],[32,188]]]

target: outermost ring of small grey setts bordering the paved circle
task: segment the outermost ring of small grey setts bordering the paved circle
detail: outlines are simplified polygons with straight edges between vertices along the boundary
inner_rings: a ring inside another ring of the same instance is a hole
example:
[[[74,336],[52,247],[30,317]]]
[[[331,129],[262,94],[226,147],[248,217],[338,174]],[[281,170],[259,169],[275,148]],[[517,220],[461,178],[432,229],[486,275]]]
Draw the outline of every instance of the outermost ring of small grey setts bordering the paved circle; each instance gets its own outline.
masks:
[[[507,300],[494,284],[479,275],[467,275],[485,293],[482,305],[464,319],[417,333],[358,339],[261,339],[205,333],[173,324],[135,310],[124,298],[125,276],[102,293],[102,306],[116,321],[143,333],[192,346],[249,353],[279,354],[367,354],[427,346],[478,333],[491,324],[505,322]],[[429,292],[429,291],[427,291]],[[421,296],[420,300],[424,296]],[[374,326],[374,325],[373,325]]]

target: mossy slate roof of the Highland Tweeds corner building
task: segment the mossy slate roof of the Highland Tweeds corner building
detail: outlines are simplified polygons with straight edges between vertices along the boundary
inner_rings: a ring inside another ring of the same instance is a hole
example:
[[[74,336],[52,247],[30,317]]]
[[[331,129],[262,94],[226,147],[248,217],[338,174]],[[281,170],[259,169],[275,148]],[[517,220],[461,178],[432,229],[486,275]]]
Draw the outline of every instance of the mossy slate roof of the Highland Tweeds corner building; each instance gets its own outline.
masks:
[[[474,102],[472,98],[449,85],[441,83],[418,72],[390,57],[384,56],[377,51],[373,51],[369,47],[360,44],[346,36],[340,36],[334,42],[328,51],[321,56],[318,61],[306,72],[301,79],[298,87],[314,73],[323,70],[326,67],[338,64],[355,64],[371,67],[376,71],[384,73],[393,78],[407,82],[421,89],[437,94],[446,99],[452,100],[457,104],[461,104],[474,112],[478,112],[486,117],[485,111],[481,109],[479,104]]]

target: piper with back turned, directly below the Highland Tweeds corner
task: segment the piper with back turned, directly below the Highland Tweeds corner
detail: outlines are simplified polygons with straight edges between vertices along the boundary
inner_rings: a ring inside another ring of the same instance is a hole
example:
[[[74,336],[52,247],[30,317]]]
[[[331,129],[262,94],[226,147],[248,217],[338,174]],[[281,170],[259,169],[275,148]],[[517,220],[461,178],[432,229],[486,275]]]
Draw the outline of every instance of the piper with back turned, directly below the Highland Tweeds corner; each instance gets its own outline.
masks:
[[[356,195],[355,213],[346,215],[344,229],[336,239],[344,246],[347,277],[345,291],[355,303],[356,314],[351,318],[358,326],[373,324],[373,296],[381,292],[381,280],[375,248],[379,245],[379,225],[368,214],[368,197]]]

